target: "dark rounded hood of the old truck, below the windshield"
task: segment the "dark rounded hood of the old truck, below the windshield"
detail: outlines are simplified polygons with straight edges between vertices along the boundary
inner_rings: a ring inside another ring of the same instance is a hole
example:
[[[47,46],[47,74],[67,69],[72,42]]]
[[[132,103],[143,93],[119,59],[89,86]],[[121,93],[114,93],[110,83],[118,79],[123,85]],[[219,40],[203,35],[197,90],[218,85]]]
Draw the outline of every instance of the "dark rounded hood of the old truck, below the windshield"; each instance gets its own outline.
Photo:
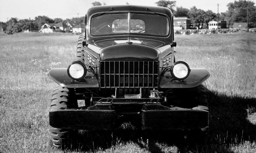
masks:
[[[137,38],[100,40],[94,45],[98,50],[92,50],[100,61],[157,61],[161,52],[170,48],[168,42]]]

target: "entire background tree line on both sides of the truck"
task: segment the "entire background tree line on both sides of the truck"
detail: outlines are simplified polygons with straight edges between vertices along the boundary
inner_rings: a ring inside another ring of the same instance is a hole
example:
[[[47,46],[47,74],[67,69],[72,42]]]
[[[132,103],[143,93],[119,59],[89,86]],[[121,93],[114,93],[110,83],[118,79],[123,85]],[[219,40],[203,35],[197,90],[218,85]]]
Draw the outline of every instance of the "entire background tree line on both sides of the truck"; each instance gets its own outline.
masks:
[[[126,2],[126,4],[129,4]],[[228,25],[233,25],[234,22],[248,22],[249,27],[256,27],[256,6],[252,1],[238,0],[228,3],[228,10],[219,14],[212,12],[212,10],[204,11],[197,9],[196,6],[190,9],[176,6],[176,1],[159,0],[156,2],[157,6],[169,8],[175,17],[188,17],[192,23],[193,28],[207,28],[207,23],[212,20],[225,20]],[[92,6],[102,5],[100,2],[93,2]],[[103,3],[106,5],[106,3]],[[176,8],[176,9],[174,9]],[[84,23],[85,17],[80,18],[49,18],[47,16],[37,16],[35,19],[18,19],[11,18],[7,22],[0,22],[4,28],[5,33],[19,33],[24,30],[38,31],[45,23],[56,24],[59,22],[73,22],[75,24]]]

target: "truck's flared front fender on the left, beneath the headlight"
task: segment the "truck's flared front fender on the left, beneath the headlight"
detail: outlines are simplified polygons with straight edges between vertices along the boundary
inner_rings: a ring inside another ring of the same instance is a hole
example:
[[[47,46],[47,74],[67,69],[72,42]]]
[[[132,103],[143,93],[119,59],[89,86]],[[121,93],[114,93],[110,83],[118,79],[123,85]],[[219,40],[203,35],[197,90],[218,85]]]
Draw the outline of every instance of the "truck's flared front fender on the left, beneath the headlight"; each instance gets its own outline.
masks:
[[[48,76],[57,84],[66,88],[95,88],[99,87],[97,77],[87,69],[86,76],[81,81],[75,81],[68,77],[68,68],[54,68]]]

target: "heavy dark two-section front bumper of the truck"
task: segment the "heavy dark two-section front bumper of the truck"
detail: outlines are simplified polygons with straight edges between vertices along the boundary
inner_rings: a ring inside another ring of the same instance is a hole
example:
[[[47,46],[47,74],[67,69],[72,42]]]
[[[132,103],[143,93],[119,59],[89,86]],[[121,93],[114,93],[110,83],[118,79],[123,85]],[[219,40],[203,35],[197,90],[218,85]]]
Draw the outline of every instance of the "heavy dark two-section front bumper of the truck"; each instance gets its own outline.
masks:
[[[135,112],[123,110],[137,107]],[[121,111],[120,111],[121,110]],[[165,107],[156,100],[127,103],[101,102],[88,109],[60,109],[49,113],[55,128],[112,130],[124,121],[137,122],[143,130],[203,129],[209,126],[209,112],[200,109]],[[136,120],[136,121],[135,121]]]

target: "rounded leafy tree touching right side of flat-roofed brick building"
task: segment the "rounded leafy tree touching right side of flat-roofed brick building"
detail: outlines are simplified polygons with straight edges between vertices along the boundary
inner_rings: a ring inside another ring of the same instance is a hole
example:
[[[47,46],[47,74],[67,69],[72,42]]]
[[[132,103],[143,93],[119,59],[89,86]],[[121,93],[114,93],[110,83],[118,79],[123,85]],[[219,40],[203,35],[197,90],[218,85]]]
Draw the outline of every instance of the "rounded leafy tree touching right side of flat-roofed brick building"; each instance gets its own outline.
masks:
[[[197,9],[196,6],[190,8],[188,15],[193,27],[200,28],[200,25],[202,27],[202,25],[205,23],[205,11]]]

